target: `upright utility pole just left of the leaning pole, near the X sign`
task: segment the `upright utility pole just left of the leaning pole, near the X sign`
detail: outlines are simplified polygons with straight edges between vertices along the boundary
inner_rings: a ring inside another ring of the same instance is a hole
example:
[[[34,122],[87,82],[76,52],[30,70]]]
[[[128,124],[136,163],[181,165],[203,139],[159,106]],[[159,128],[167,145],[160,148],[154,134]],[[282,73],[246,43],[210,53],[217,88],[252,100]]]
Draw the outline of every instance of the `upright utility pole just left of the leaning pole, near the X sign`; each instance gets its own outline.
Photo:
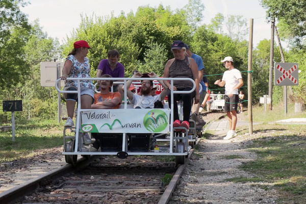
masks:
[[[273,94],[273,58],[274,58],[274,22],[275,18],[271,20],[271,44],[270,44],[270,69],[269,69],[269,109],[272,110],[272,94]]]

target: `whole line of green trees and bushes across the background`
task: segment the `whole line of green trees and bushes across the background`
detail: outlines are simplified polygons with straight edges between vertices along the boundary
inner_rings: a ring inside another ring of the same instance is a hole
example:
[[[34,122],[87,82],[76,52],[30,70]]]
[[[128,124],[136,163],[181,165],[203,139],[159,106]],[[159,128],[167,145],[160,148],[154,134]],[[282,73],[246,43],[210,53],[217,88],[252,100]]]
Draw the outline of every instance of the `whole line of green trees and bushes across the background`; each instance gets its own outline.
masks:
[[[79,28],[67,37],[67,41],[62,46],[59,45],[58,39],[50,38],[42,31],[38,20],[32,25],[28,23],[24,14],[18,9],[18,6],[24,6],[23,1],[15,1],[15,4],[12,2],[6,0],[0,3],[1,8],[9,8],[10,5],[11,13],[6,15],[13,16],[11,18],[0,16],[0,22],[4,28],[5,26],[8,28],[8,31],[0,29],[0,32],[3,32],[3,36],[0,37],[0,41],[2,40],[0,71],[4,76],[0,78],[0,85],[6,87],[0,90],[0,99],[22,98],[24,111],[18,114],[22,114],[23,118],[56,117],[57,91],[53,87],[40,87],[40,62],[53,61],[54,58],[59,61],[64,60],[76,40],[86,40],[92,47],[88,54],[91,77],[95,77],[100,60],[107,58],[110,49],[119,51],[119,61],[125,66],[125,77],[130,77],[135,69],[140,72],[154,71],[162,76],[167,60],[173,58],[170,50],[172,42],[182,40],[191,46],[191,52],[202,57],[206,67],[205,72],[211,75],[208,77],[210,89],[218,91],[220,89],[213,83],[222,79],[222,75],[219,74],[222,74],[225,68],[220,61],[226,56],[234,58],[234,66],[242,71],[246,86],[248,64],[248,42],[244,40],[248,32],[246,19],[235,15],[224,17],[218,13],[210,24],[199,25],[205,7],[198,0],[190,0],[183,9],[175,11],[160,5],[155,8],[142,6],[136,13],[121,13],[119,16],[113,14],[104,17],[81,16]],[[194,14],[192,17],[191,13]],[[14,22],[12,19],[15,19],[16,23],[12,23]],[[254,48],[252,65],[254,101],[258,101],[259,97],[267,93],[269,47],[269,40],[264,39]],[[289,52],[285,52],[286,61],[300,63],[299,68],[302,70],[300,85],[294,87],[294,91],[304,100],[306,99],[305,50],[301,43],[298,47],[291,47]],[[274,60],[280,61],[276,47],[274,52]],[[279,87],[274,89],[277,99],[282,99],[281,89]],[[246,88],[242,90],[247,93]]]

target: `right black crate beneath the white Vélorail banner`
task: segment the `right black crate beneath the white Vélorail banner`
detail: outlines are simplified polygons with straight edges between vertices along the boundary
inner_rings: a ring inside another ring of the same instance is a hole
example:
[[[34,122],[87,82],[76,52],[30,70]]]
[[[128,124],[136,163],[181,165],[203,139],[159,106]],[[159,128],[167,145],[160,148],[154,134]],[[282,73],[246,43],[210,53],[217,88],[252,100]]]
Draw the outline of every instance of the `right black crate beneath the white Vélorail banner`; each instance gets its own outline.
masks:
[[[151,134],[127,133],[130,151],[149,151]]]

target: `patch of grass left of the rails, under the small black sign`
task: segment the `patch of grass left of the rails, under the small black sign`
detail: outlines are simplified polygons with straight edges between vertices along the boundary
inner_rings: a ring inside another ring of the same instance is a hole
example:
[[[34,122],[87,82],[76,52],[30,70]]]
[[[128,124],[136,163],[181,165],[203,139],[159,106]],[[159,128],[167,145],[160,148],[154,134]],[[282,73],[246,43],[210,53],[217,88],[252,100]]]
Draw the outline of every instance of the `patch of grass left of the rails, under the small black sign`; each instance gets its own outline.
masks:
[[[61,146],[62,131],[63,124],[55,120],[16,121],[15,142],[12,141],[12,131],[0,131],[0,162],[30,157],[35,149]]]

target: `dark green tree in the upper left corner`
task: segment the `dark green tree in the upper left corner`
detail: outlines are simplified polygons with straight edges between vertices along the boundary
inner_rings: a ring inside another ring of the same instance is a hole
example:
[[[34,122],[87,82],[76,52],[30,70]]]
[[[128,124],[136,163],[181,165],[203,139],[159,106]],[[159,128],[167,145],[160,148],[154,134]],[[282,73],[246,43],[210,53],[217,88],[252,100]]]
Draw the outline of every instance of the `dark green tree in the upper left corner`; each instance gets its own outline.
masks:
[[[28,19],[19,7],[23,0],[0,1],[0,86],[11,87],[27,72],[23,46],[30,29]]]

